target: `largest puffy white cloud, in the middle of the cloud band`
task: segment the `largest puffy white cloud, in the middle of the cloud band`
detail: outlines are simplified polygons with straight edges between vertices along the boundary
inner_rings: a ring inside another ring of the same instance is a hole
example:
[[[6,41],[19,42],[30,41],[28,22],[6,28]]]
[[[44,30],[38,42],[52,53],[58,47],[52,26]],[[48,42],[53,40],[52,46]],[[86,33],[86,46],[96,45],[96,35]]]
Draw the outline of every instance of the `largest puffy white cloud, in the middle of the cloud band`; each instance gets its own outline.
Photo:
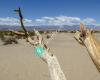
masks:
[[[67,17],[67,16],[57,16],[57,17],[42,17],[40,19],[36,19],[35,21],[39,24],[63,25],[63,24],[79,23],[80,18]]]

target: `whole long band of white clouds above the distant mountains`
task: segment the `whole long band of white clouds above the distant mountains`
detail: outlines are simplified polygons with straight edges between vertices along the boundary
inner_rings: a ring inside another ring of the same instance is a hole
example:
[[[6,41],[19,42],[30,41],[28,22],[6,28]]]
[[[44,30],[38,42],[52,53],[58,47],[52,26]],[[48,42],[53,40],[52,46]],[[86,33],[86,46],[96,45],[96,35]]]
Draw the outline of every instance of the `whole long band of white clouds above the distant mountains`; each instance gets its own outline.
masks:
[[[26,26],[32,25],[75,25],[80,22],[85,24],[96,24],[96,20],[93,18],[80,19],[79,17],[57,16],[57,17],[42,17],[35,20],[24,19]],[[20,25],[20,22],[16,18],[0,18],[0,25]]]

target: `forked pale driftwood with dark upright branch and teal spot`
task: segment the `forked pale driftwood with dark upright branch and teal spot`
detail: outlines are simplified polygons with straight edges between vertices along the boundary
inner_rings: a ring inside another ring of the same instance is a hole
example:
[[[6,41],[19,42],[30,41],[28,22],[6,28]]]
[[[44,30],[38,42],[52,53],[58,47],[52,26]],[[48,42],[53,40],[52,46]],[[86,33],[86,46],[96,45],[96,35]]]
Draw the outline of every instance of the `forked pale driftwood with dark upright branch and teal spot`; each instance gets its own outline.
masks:
[[[37,36],[37,41],[32,40],[31,36],[29,35],[28,31],[25,29],[23,25],[23,16],[22,16],[20,8],[15,11],[19,13],[21,27],[24,30],[24,34],[26,36],[27,41],[31,45],[33,45],[34,48],[36,48],[38,45],[44,48],[45,52],[42,56],[40,56],[40,58],[47,63],[49,71],[50,71],[50,75],[51,75],[51,80],[66,80],[65,75],[63,71],[61,70],[60,64],[57,60],[57,57],[54,54],[50,53],[49,48],[44,43],[44,40],[41,34],[37,30],[34,29],[35,35]],[[16,32],[16,31],[12,31],[12,32],[15,34],[18,33],[22,35],[22,33],[20,32]]]

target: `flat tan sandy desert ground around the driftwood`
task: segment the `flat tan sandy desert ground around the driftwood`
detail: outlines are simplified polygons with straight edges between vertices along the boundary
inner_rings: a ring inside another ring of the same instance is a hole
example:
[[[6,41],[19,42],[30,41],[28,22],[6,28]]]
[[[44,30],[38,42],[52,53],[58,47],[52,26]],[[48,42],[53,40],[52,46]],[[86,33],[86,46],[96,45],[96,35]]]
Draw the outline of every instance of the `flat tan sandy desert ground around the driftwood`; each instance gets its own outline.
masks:
[[[96,34],[100,40],[100,34]],[[48,44],[67,80],[100,80],[85,47],[73,34],[60,33]],[[20,40],[18,45],[2,46],[0,41],[0,80],[50,80],[47,64],[34,55],[33,47]]]

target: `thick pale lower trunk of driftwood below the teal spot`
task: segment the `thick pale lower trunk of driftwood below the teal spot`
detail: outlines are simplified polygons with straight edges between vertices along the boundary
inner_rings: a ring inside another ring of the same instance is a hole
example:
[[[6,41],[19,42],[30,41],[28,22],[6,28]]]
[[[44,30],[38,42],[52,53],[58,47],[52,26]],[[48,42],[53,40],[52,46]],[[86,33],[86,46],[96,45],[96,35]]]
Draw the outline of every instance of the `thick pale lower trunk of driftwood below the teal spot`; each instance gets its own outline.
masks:
[[[49,55],[48,52],[42,57],[48,64],[50,71],[51,80],[66,80],[63,71],[61,70],[60,64],[55,55]]]

